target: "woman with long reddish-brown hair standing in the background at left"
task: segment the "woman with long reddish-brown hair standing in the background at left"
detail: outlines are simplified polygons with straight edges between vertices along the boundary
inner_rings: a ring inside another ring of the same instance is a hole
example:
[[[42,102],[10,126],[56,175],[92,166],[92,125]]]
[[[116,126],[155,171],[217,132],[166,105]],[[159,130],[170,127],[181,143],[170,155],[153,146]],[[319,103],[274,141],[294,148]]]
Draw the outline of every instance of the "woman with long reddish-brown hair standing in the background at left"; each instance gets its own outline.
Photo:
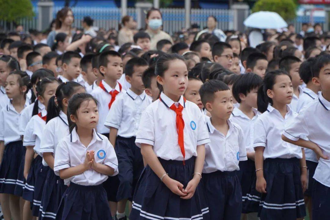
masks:
[[[73,12],[70,8],[64,7],[56,14],[55,30],[51,31],[47,37],[47,44],[52,47],[55,43],[55,36],[58,33],[65,33],[69,36],[69,43],[72,41],[74,31],[72,30],[72,23],[74,21]]]

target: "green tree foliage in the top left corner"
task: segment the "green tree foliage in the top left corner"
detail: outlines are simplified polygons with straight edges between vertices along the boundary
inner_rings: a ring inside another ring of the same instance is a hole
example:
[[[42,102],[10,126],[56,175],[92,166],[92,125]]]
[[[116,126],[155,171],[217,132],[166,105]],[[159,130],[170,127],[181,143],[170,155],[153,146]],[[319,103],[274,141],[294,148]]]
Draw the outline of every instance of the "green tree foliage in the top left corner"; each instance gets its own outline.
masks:
[[[34,16],[30,0],[0,0],[0,5],[0,20],[11,22]]]

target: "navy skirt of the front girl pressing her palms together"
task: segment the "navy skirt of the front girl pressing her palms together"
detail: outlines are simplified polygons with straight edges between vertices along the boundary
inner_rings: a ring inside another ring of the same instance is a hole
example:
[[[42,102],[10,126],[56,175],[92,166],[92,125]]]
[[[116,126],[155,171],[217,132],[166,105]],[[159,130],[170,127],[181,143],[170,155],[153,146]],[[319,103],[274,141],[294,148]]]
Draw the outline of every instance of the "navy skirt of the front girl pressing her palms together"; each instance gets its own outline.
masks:
[[[57,220],[112,220],[103,185],[82,186],[70,182],[58,208]]]

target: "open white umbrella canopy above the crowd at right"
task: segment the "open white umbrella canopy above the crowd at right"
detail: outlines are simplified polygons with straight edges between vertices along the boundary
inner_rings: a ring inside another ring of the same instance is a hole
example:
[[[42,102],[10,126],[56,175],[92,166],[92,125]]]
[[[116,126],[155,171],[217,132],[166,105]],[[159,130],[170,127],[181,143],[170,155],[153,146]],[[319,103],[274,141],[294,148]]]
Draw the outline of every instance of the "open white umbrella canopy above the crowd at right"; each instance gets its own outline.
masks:
[[[244,25],[259,29],[279,29],[287,27],[288,24],[276,12],[255,12],[250,14],[244,21]]]

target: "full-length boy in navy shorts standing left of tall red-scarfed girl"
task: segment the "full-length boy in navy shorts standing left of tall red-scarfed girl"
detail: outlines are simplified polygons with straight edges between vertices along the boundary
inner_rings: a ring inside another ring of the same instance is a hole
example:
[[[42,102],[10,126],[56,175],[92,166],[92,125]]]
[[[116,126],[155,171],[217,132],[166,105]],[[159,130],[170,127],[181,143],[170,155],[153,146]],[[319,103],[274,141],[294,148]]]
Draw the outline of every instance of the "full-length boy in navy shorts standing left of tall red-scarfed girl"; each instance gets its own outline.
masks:
[[[135,144],[135,138],[141,114],[151,104],[142,83],[142,73],[147,68],[147,61],[140,57],[134,57],[127,62],[125,78],[131,84],[131,88],[116,98],[104,123],[110,128],[109,140],[115,147],[120,169],[115,220],[126,219],[127,200],[133,198],[135,185],[144,167],[142,154]]]

